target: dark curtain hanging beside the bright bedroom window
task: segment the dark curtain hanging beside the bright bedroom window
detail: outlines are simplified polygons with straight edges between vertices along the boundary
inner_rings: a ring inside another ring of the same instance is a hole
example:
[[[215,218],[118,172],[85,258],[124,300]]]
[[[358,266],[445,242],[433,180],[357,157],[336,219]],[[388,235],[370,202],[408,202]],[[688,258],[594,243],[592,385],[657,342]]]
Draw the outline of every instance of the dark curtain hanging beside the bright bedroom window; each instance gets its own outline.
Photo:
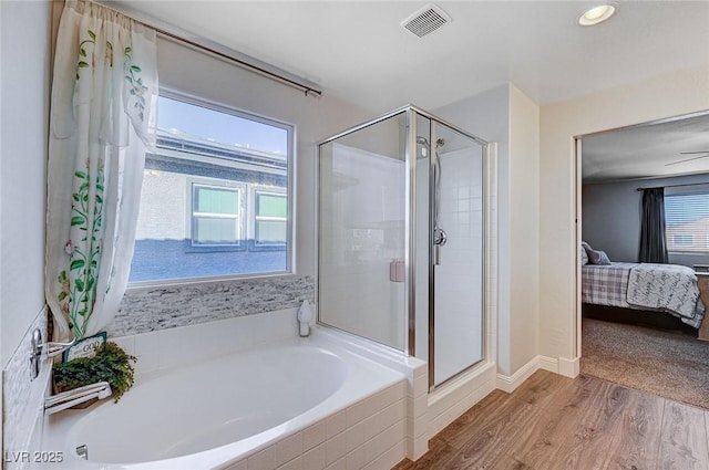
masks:
[[[643,190],[640,262],[668,262],[667,240],[665,238],[665,188],[647,188]]]

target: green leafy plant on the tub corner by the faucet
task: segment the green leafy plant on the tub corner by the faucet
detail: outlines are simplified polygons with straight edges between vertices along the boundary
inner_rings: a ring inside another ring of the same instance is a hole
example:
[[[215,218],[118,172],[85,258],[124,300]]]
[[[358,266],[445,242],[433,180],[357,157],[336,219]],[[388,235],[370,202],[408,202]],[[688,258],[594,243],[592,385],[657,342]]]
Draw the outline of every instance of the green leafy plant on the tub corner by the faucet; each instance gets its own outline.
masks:
[[[117,344],[109,342],[96,348],[94,357],[79,357],[68,363],[54,364],[56,391],[65,391],[96,382],[111,384],[113,398],[119,403],[133,386],[133,366],[136,357],[126,354]]]

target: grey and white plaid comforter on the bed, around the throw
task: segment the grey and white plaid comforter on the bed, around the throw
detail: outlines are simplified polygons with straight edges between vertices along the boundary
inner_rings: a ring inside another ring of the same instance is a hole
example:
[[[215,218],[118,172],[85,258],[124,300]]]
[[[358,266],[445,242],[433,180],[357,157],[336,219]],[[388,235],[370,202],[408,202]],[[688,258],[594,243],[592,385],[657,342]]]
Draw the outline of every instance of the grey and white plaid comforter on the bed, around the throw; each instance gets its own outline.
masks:
[[[684,323],[699,327],[705,316],[705,305],[701,299],[687,309],[677,311],[668,309],[651,309],[628,303],[628,279],[630,270],[639,267],[638,263],[613,263],[610,265],[585,264],[582,267],[582,302],[596,305],[619,306],[624,309],[639,309],[648,311],[667,312],[679,317]],[[635,302],[637,303],[637,302]]]

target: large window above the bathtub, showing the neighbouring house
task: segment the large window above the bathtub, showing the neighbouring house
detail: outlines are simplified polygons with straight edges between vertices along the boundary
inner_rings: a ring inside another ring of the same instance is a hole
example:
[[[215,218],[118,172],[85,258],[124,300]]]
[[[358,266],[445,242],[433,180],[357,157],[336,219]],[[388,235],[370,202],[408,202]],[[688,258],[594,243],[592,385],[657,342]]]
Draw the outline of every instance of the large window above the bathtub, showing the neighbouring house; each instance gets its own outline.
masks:
[[[290,271],[292,126],[158,101],[130,282]]]

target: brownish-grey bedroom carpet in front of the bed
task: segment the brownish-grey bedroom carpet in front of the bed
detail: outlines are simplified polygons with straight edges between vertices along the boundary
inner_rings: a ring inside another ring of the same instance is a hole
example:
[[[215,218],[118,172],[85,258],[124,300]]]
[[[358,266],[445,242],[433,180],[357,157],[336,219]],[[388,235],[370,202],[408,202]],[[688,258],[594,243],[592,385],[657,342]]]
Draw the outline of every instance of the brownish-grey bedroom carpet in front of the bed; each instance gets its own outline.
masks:
[[[584,318],[580,373],[709,409],[709,342]]]

